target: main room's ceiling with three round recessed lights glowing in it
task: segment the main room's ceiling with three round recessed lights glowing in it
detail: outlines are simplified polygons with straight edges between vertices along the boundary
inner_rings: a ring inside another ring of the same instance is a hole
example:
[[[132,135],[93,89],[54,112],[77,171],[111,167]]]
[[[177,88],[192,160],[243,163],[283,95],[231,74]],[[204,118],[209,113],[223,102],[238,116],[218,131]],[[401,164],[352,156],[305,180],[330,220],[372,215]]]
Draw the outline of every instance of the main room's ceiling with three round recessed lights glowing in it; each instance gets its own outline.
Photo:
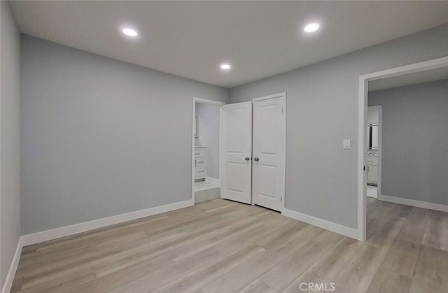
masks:
[[[236,87],[448,22],[446,1],[13,1],[25,34]],[[302,27],[320,22],[305,35]],[[124,38],[120,28],[139,31]],[[221,62],[232,69],[223,72]]]

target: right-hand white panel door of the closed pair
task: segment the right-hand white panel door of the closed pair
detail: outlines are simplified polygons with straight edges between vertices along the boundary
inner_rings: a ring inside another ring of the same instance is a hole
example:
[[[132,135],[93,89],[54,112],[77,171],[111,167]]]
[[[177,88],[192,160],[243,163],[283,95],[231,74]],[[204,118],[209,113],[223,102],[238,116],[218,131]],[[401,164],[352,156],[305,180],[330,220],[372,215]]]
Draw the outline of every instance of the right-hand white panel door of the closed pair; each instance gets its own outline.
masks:
[[[286,97],[272,97],[254,99],[253,103],[253,203],[281,211],[285,193]]]

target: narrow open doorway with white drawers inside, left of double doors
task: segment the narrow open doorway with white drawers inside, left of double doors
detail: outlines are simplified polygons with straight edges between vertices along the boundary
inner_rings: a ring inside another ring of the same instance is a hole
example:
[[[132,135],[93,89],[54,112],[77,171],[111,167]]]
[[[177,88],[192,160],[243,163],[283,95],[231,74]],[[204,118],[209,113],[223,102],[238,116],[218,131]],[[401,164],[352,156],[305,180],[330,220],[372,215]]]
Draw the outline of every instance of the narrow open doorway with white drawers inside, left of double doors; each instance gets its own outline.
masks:
[[[225,103],[193,97],[192,199],[220,198],[221,106]]]

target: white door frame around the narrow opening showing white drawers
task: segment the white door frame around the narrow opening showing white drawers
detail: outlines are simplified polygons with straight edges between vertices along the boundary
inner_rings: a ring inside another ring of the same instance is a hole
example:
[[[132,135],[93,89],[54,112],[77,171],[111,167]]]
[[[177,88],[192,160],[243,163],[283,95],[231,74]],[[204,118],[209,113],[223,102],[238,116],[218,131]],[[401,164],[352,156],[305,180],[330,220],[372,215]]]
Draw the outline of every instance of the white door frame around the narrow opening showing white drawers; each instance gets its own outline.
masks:
[[[224,102],[214,101],[211,99],[203,99],[193,97],[192,99],[192,116],[191,116],[191,200],[193,205],[195,204],[195,116],[196,116],[196,103],[208,103],[210,105],[220,106],[219,109],[219,143],[221,145],[221,122],[222,122],[222,110],[221,106],[225,105]],[[219,164],[221,164],[221,146],[218,150]],[[221,181],[221,166],[219,168],[219,180]]]

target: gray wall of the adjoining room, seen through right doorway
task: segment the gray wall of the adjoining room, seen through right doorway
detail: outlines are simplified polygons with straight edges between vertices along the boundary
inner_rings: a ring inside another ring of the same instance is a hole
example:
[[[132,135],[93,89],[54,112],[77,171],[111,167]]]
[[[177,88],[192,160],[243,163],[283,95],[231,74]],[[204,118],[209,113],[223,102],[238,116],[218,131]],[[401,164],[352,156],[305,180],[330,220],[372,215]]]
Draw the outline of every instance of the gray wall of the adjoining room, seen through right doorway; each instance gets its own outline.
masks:
[[[383,106],[381,193],[448,204],[448,80],[369,93]]]

